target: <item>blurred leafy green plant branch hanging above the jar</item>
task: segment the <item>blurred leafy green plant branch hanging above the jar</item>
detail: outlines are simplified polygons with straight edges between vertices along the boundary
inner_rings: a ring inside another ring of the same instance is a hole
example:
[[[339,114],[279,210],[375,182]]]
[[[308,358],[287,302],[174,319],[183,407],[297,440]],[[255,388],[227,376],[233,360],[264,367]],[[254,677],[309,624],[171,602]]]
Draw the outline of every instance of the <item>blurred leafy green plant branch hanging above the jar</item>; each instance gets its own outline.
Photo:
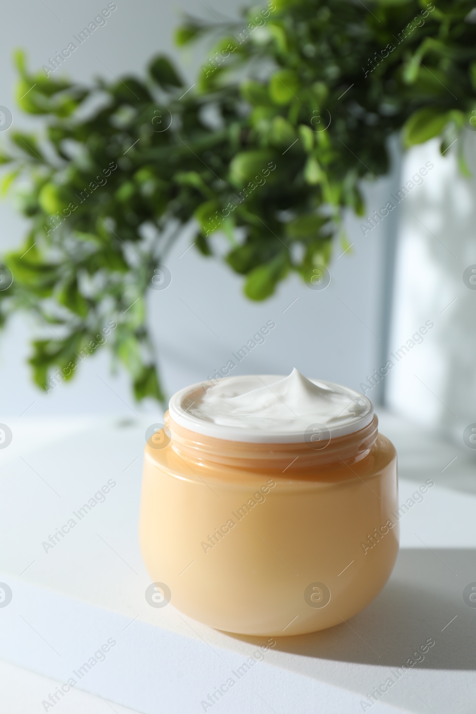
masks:
[[[178,44],[218,34],[192,88],[164,56],[143,79],[91,86],[32,74],[16,56],[19,105],[46,131],[11,131],[1,154],[2,190],[14,187],[30,230],[4,257],[14,281],[0,319],[31,308],[56,331],[33,342],[39,386],[53,368],[71,378],[113,320],[108,345],[136,398],[163,399],[145,297],[186,223],[207,256],[211,234],[226,236],[228,265],[261,300],[290,271],[309,281],[345,241],[343,212],[363,214],[360,182],[388,171],[390,135],[402,130],[405,146],[442,136],[442,151],[455,141],[476,114],[472,2],[369,8],[275,0],[235,26],[188,18]]]

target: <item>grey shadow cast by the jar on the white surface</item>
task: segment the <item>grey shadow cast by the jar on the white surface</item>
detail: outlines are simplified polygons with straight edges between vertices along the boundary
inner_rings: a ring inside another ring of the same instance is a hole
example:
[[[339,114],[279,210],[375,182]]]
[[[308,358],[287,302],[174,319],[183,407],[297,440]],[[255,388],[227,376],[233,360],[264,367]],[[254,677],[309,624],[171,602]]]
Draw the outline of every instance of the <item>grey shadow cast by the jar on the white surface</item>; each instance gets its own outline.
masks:
[[[476,669],[476,608],[462,598],[472,582],[476,550],[402,549],[380,595],[348,624],[275,638],[275,649],[309,658],[399,667],[432,638],[435,645],[417,668]],[[263,640],[235,636],[252,643]]]

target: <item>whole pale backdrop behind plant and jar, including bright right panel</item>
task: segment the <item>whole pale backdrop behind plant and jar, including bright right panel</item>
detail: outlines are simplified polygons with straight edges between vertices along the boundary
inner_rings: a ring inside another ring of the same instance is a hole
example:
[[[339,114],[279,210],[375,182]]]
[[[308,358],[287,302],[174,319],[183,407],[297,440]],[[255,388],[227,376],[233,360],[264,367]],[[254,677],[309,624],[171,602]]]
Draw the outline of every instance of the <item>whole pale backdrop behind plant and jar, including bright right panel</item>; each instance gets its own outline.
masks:
[[[226,0],[219,10],[201,0],[180,3],[118,2],[107,24],[98,29],[61,71],[79,81],[101,75],[107,80],[124,72],[141,73],[151,54],[173,56],[193,81],[198,61],[206,56],[173,46],[174,27],[184,11],[207,21],[236,18],[240,3]],[[51,0],[9,4],[4,9],[0,47],[0,104],[14,116],[14,128],[39,127],[41,118],[21,114],[14,99],[16,75],[12,52],[26,50],[29,66],[40,68],[97,13],[94,0],[81,6]],[[465,130],[474,169],[475,136]],[[440,156],[437,140],[402,155],[395,140],[393,171],[365,186],[368,215],[385,205],[390,193],[430,161],[422,185],[377,228],[363,235],[360,222],[348,216],[351,248],[336,243],[332,276],[324,291],[308,288],[298,276],[278,286],[263,303],[243,296],[242,279],[216,258],[187,250],[186,232],[176,243],[167,266],[173,279],[166,291],[149,291],[153,338],[166,395],[212,375],[268,320],[276,323],[236,368],[236,373],[287,374],[295,366],[307,376],[361,389],[375,368],[405,344],[426,321],[432,321],[422,343],[405,354],[378,386],[368,392],[375,403],[402,413],[462,443],[462,431],[475,419],[476,369],[474,330],[476,292],[463,282],[463,272],[476,262],[474,178],[463,178],[455,147]],[[26,221],[8,198],[0,203],[1,250],[16,246]],[[31,316],[32,321],[35,317]],[[157,412],[157,406],[133,401],[125,373],[111,374],[109,356],[98,351],[79,368],[71,383],[62,382],[48,395],[34,386],[26,359],[31,323],[17,315],[0,341],[1,411],[7,417],[81,413],[131,416]]]

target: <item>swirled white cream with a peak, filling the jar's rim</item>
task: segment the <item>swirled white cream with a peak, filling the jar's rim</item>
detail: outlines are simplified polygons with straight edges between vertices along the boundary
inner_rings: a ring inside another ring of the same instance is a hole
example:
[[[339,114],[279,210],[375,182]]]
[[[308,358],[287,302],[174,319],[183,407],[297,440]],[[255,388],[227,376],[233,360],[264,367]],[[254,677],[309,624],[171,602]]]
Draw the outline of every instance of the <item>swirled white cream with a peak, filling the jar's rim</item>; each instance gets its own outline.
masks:
[[[171,398],[173,421],[191,431],[255,443],[306,441],[315,424],[330,437],[359,431],[373,420],[373,404],[347,387],[305,378],[297,369],[288,377],[245,375],[201,382]]]

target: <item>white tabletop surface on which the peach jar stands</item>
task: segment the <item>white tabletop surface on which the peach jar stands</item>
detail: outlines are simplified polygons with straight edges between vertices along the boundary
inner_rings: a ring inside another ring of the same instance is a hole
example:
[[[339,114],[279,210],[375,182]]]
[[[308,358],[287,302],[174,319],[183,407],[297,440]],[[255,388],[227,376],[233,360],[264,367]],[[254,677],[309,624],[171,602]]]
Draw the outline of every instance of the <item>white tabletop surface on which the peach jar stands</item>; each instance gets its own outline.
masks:
[[[0,710],[203,712],[201,701],[265,638],[226,635],[146,603],[137,520],[148,421],[7,423],[14,439],[0,451],[0,581],[13,598],[0,608]],[[400,503],[427,478],[436,484],[400,521],[388,584],[348,623],[278,639],[207,711],[357,714],[388,677],[395,684],[366,711],[474,710],[476,608],[462,598],[476,581],[474,455],[382,413],[380,428],[399,453]],[[111,478],[106,501],[45,552],[49,535]],[[435,645],[425,660],[396,680],[395,668],[428,638]],[[46,709],[57,683],[108,639],[116,644],[105,659]]]

